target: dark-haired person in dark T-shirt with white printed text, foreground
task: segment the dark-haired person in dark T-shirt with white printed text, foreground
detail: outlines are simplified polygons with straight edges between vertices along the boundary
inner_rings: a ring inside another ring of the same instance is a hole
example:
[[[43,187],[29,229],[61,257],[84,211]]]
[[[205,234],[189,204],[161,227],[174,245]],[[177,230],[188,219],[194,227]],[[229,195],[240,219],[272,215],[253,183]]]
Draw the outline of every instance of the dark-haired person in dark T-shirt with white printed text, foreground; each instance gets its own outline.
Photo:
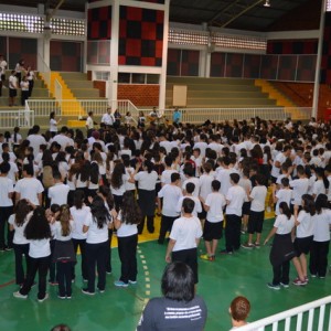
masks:
[[[148,301],[139,320],[138,331],[203,330],[207,308],[204,300],[195,296],[194,274],[182,261],[169,264],[161,280],[162,298]]]

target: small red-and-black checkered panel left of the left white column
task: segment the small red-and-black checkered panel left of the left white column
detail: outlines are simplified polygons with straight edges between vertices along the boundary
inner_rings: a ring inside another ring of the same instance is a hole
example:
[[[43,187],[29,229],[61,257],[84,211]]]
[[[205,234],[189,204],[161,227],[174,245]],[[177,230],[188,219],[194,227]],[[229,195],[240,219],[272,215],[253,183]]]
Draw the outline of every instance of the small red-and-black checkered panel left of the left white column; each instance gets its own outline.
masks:
[[[111,39],[111,6],[88,9],[87,40]]]

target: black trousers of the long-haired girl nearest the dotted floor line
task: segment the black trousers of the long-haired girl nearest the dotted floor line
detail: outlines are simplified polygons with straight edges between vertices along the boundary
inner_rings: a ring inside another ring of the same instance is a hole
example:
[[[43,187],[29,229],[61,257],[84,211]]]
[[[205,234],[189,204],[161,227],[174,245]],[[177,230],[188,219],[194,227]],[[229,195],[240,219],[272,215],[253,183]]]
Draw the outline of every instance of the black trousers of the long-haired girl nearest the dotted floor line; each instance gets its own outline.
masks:
[[[128,237],[118,237],[118,255],[121,263],[119,279],[122,282],[127,284],[129,280],[137,280],[137,234]]]

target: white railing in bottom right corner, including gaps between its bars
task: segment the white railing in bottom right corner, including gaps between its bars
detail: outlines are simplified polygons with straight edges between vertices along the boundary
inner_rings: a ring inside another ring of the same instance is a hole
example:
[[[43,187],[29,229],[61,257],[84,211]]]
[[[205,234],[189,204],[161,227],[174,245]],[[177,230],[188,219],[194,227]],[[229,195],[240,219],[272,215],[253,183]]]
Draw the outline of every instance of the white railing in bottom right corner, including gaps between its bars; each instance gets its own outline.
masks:
[[[331,330],[331,296],[273,314],[265,319],[237,328],[236,330]]]

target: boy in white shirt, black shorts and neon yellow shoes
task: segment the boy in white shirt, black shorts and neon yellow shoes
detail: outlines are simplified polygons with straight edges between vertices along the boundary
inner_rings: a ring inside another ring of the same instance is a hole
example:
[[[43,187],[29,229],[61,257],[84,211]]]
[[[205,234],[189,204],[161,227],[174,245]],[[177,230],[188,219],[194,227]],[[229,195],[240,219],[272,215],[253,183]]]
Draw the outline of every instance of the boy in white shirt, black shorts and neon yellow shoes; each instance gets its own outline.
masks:
[[[212,181],[213,192],[210,193],[206,200],[202,200],[203,207],[207,212],[206,220],[203,227],[203,238],[206,254],[200,257],[205,260],[215,260],[218,241],[223,234],[223,209],[226,205],[225,197],[220,193],[221,182]]]

